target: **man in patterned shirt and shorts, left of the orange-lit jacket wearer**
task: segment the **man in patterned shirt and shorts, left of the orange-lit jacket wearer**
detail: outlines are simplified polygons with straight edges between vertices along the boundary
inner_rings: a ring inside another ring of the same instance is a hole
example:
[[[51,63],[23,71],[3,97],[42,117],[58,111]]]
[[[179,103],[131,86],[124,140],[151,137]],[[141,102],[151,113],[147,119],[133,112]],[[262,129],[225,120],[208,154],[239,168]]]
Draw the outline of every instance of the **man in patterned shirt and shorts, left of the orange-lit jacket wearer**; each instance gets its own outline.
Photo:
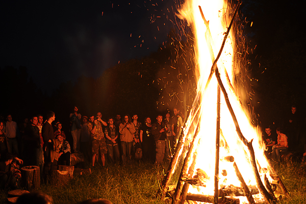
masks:
[[[108,120],[108,123],[109,125],[105,128],[107,152],[110,160],[115,163],[119,162],[120,159],[119,147],[116,141],[118,138],[118,132],[116,130],[116,126],[114,125],[114,120],[112,118]]]

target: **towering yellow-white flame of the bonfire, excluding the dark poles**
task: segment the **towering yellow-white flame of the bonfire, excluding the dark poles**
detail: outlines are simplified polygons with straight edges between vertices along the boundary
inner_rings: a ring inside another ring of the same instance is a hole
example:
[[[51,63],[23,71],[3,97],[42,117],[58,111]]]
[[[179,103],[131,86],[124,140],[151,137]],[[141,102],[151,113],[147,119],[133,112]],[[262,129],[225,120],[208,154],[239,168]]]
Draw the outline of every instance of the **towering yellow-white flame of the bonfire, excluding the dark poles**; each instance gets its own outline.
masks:
[[[205,25],[199,7],[203,11],[206,20],[209,22],[209,30]],[[179,14],[180,18],[186,19],[188,24],[192,27],[195,35],[194,44],[194,59],[198,73],[197,82],[197,96],[194,103],[195,109],[192,110],[186,122],[184,129],[187,139],[194,137],[196,127],[199,125],[195,144],[198,144],[194,151],[197,153],[195,171],[202,169],[209,178],[206,181],[206,187],[189,187],[189,192],[194,194],[214,195],[214,170],[215,170],[215,143],[216,143],[216,118],[217,118],[217,80],[215,75],[212,77],[208,87],[205,89],[208,81],[211,67],[215,57],[221,47],[224,38],[224,33],[230,24],[233,11],[228,6],[227,2],[223,0],[190,0],[186,1]],[[238,120],[241,132],[244,137],[251,141],[253,139],[253,148],[256,159],[260,165],[259,172],[262,168],[268,167],[268,162],[264,156],[263,146],[261,145],[261,132],[259,128],[253,127],[250,123],[247,111],[241,105],[241,101],[246,100],[238,98],[235,94],[230,81],[234,81],[233,61],[235,56],[235,35],[231,32],[222,51],[221,57],[217,62],[221,79],[225,86],[228,98],[234,109],[236,118]],[[226,72],[228,77],[226,76]],[[237,71],[235,71],[237,73]],[[198,105],[200,102],[200,105]],[[233,122],[230,111],[228,110],[224,97],[221,93],[221,107],[220,107],[220,158],[225,156],[234,156],[235,162],[244,177],[248,186],[256,186],[256,180],[249,161],[249,151],[247,147],[241,142],[236,132],[236,127]],[[190,162],[191,164],[191,162]],[[258,166],[259,166],[258,165]],[[227,175],[222,175],[222,170],[227,171]],[[219,164],[219,188],[220,185],[240,186],[237,179],[233,164],[223,162],[220,160]]]

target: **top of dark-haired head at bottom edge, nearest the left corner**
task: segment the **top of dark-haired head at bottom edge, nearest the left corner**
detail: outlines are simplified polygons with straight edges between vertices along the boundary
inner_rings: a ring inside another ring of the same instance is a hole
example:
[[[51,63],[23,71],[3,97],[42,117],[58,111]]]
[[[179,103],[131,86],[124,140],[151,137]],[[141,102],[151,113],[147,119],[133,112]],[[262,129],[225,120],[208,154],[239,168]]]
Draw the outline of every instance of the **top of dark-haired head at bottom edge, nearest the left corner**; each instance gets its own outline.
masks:
[[[16,200],[16,204],[52,204],[52,198],[41,192],[23,193]]]

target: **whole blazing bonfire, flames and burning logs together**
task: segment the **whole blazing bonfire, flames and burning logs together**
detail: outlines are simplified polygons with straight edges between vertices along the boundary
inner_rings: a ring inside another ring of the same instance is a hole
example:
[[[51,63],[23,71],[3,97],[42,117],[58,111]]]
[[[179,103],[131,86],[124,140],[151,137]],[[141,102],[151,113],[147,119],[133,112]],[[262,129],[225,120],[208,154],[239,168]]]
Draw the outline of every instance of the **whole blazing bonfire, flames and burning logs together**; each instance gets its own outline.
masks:
[[[167,187],[175,169],[181,168],[180,156],[185,157],[172,203],[186,199],[275,202],[270,185],[273,170],[264,156],[261,130],[252,125],[242,105],[246,99],[239,95],[241,87],[232,85],[241,69],[235,62],[237,46],[231,30],[239,6],[233,10],[223,0],[190,0],[177,14],[195,35],[198,82],[184,133],[162,184]]]

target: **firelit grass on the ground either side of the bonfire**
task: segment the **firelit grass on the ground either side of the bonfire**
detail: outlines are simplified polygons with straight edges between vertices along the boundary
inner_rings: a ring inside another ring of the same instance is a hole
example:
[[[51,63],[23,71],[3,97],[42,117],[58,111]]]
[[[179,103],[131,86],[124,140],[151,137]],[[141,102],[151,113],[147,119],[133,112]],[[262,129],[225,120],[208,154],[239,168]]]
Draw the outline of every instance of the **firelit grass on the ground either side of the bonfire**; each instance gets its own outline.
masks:
[[[298,163],[274,165],[291,196],[279,203],[306,203],[305,171]],[[149,163],[135,162],[126,166],[107,166],[92,169],[90,175],[75,177],[65,187],[42,185],[40,191],[52,196],[57,203],[79,203],[89,198],[106,198],[114,204],[121,203],[165,203],[156,197],[158,172],[161,168]],[[7,191],[0,192],[0,203],[5,203]]]

